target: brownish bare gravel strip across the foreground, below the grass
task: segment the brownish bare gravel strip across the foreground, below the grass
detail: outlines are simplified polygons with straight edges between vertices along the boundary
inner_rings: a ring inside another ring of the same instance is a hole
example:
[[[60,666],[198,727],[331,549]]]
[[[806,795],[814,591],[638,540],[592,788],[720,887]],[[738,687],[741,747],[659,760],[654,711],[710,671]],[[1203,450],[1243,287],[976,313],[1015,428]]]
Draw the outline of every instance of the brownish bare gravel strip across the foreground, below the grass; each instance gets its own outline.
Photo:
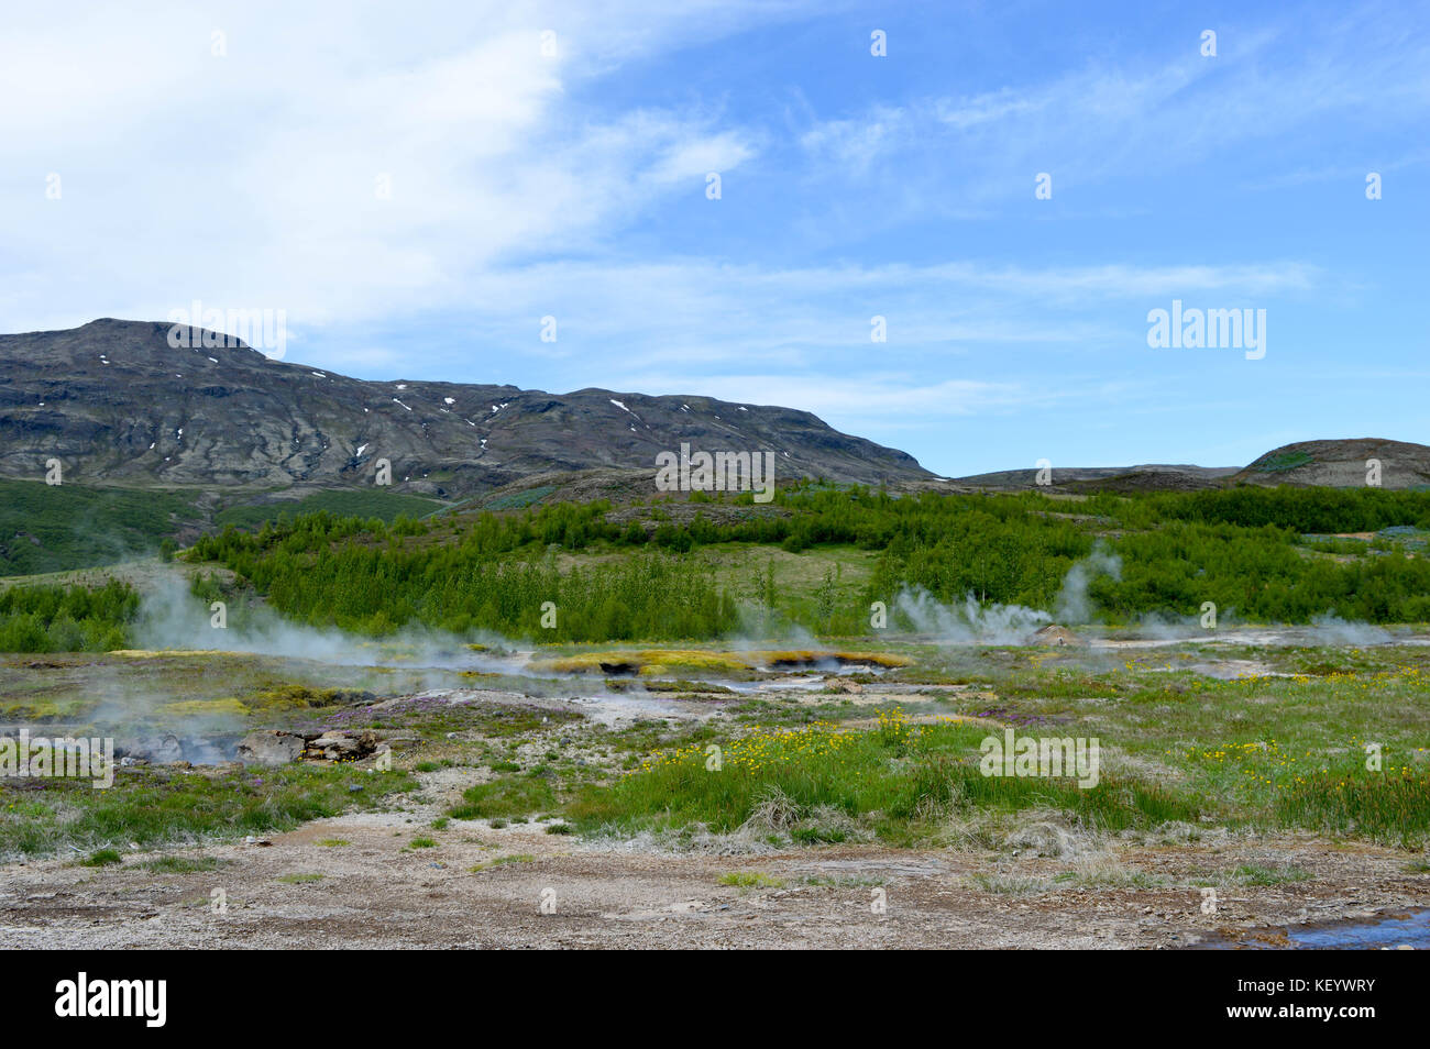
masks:
[[[410,847],[419,836],[436,846]],[[97,869],[10,865],[0,869],[0,942],[21,949],[1178,948],[1218,930],[1276,945],[1287,923],[1430,905],[1430,875],[1416,873],[1406,853],[1313,837],[1118,847],[1098,867],[1115,866],[1111,880],[1120,883],[1110,885],[1095,878],[1058,885],[1060,872],[1075,869],[1065,859],[877,845],[761,856],[596,849],[541,825],[493,830],[453,822],[430,830],[392,813],[317,820],[270,840],[136,852],[122,866]],[[193,873],[140,866],[163,855],[217,866]],[[1203,913],[1195,888],[1140,885],[1241,863],[1290,863],[1310,878],[1220,889],[1213,915]],[[729,875],[765,883],[722,885]],[[990,878],[1044,888],[995,892]],[[216,890],[226,913],[214,913]]]

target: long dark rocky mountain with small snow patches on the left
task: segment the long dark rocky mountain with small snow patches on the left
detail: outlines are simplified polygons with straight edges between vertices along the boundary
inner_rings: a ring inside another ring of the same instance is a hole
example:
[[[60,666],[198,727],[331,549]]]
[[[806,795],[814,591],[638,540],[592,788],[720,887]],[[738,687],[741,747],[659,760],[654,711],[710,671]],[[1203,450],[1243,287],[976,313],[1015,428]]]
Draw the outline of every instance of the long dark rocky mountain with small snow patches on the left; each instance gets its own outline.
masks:
[[[654,470],[661,452],[775,453],[775,477],[931,479],[912,456],[808,412],[701,396],[575,393],[420,379],[370,382],[230,340],[170,346],[167,323],[94,320],[0,334],[0,476],[126,487],[393,487],[458,497],[522,477]],[[180,340],[182,342],[182,340]]]

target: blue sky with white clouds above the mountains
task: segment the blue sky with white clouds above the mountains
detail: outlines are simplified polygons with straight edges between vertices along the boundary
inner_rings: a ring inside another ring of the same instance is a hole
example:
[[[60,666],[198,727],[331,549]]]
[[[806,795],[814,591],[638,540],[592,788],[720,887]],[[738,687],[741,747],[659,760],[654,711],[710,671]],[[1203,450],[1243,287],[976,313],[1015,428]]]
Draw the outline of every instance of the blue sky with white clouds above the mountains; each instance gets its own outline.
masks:
[[[1427,117],[1424,3],[6,3],[0,330],[280,310],[944,476],[1430,443]]]

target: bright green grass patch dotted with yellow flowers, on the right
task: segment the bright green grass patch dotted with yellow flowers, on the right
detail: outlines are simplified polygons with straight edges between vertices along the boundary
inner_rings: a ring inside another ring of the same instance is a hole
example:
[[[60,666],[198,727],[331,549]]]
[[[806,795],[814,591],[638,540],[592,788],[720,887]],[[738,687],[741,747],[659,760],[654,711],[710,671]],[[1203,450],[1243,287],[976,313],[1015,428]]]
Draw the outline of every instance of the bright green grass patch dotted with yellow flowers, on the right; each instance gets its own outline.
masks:
[[[702,735],[648,757],[618,786],[576,795],[571,813],[586,830],[705,825],[728,832],[754,822],[792,840],[818,840],[832,827],[912,843],[994,840],[1007,815],[1042,809],[1093,833],[1173,822],[1424,847],[1430,692],[1423,650],[1344,653],[1367,666],[1320,676],[1294,667],[1343,653],[1288,650],[1280,656],[1288,669],[1277,673],[1293,676],[1243,680],[1177,670],[1177,662],[1197,659],[1184,655],[1097,670],[1045,650],[957,667],[932,659],[911,676],[957,680],[971,696],[931,689],[881,707],[869,727],[862,727],[868,706],[847,697],[797,712],[755,706],[742,733]],[[819,720],[798,723],[801,716]],[[978,742],[998,726],[1098,737],[1101,782],[1081,790],[1064,780],[984,777]],[[712,745],[724,747],[719,772],[708,769]],[[1379,755],[1374,769],[1367,767],[1370,745]]]

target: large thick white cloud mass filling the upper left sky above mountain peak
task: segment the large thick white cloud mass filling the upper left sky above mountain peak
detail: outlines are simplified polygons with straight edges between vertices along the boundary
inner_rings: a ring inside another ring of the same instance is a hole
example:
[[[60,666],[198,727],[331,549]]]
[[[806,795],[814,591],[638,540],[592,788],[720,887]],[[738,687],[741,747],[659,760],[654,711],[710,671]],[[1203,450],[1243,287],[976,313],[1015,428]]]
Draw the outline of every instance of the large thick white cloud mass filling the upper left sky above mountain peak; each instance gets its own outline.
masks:
[[[17,17],[0,36],[0,320],[163,317],[197,297],[286,309],[300,326],[460,303],[500,260],[589,249],[758,150],[689,107],[591,109],[572,97],[591,77],[795,11],[488,1],[335,17],[255,3]],[[539,51],[543,29],[556,59]],[[50,173],[59,200],[44,197]]]

